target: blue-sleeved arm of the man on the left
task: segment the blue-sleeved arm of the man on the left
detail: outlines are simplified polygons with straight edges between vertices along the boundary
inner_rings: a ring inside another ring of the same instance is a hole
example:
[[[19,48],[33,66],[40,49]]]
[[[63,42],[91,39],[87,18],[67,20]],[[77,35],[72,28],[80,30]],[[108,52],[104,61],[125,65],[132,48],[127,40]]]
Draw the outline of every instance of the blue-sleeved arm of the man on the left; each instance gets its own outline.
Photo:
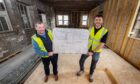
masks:
[[[48,55],[48,52],[42,52],[42,51],[40,50],[38,44],[37,44],[34,40],[32,40],[32,46],[33,46],[35,52],[36,52],[39,56],[46,56],[46,55]]]

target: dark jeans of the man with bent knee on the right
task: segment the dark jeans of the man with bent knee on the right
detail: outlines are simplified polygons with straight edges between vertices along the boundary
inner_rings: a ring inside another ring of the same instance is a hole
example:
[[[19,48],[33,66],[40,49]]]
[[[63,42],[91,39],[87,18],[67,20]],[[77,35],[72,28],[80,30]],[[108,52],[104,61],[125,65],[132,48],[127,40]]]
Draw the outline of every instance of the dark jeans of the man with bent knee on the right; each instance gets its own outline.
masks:
[[[90,75],[93,75],[93,72],[96,68],[96,64],[99,60],[99,55],[100,53],[95,52],[92,56],[92,61],[91,61],[91,65],[90,65]],[[79,65],[80,65],[80,70],[84,71],[84,63],[85,60],[88,58],[89,56],[87,56],[86,54],[82,54],[80,61],[79,61]]]

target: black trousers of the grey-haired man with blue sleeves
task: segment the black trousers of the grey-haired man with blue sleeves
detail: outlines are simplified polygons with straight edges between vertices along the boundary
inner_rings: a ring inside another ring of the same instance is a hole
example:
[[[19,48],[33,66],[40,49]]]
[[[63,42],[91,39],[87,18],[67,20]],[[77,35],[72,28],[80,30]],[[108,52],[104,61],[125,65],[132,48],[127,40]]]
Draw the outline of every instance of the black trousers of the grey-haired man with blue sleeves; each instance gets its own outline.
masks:
[[[58,71],[57,71],[57,62],[58,62],[58,54],[54,54],[53,56],[50,56],[49,58],[42,58],[42,62],[44,64],[44,70],[45,70],[45,74],[46,75],[50,75],[50,62],[52,63],[53,66],[53,74],[57,75]]]

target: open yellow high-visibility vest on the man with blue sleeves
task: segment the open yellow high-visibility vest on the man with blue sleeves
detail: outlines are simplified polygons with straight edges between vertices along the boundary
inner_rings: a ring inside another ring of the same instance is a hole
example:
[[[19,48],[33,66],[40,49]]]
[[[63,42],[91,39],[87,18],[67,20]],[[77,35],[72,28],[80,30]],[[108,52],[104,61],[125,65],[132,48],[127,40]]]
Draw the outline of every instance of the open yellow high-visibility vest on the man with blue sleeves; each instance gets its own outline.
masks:
[[[53,37],[52,37],[51,30],[48,30],[47,34],[52,41]],[[36,34],[35,34],[35,35],[32,36],[32,39],[38,44],[41,51],[47,52],[47,49],[45,48],[45,46],[44,46],[42,40],[40,39],[40,37],[36,36]],[[49,57],[48,55],[47,56],[42,56],[42,58],[48,58],[48,57]]]

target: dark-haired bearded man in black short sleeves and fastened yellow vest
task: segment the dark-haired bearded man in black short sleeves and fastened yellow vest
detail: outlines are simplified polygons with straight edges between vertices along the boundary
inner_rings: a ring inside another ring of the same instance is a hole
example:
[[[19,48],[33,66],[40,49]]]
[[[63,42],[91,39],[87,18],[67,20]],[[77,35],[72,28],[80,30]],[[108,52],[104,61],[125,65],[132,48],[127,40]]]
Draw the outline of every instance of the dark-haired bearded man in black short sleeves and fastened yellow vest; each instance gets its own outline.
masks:
[[[93,82],[93,72],[95,70],[96,64],[99,60],[99,55],[102,51],[102,48],[105,45],[108,30],[103,27],[103,17],[102,15],[96,15],[94,19],[94,26],[89,29],[89,43],[88,43],[88,53],[82,54],[79,65],[80,71],[77,72],[77,76],[80,76],[84,73],[84,62],[89,57],[92,56],[92,62],[89,72],[89,81]]]

